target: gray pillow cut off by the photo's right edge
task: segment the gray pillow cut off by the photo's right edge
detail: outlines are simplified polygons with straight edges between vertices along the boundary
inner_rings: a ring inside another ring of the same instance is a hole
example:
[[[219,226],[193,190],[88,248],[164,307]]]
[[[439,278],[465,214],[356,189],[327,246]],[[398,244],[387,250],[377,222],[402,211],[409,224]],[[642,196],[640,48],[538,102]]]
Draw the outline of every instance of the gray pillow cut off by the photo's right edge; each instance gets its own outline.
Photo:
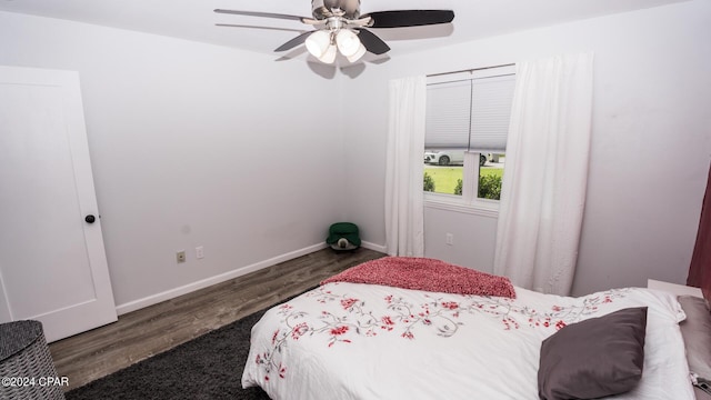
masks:
[[[707,301],[692,296],[680,296],[679,303],[687,319],[679,323],[687,348],[689,370],[701,378],[711,379],[711,313]],[[711,394],[694,388],[697,399],[711,399]]]

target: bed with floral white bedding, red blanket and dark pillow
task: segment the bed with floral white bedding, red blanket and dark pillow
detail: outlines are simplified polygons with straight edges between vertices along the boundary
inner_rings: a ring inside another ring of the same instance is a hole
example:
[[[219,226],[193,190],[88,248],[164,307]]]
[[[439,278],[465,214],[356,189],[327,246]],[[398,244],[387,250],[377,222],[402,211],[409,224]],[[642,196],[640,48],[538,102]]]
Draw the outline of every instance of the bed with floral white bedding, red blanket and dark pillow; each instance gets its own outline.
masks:
[[[693,400],[685,318],[664,291],[559,297],[383,258],[270,309],[242,386],[272,399]]]

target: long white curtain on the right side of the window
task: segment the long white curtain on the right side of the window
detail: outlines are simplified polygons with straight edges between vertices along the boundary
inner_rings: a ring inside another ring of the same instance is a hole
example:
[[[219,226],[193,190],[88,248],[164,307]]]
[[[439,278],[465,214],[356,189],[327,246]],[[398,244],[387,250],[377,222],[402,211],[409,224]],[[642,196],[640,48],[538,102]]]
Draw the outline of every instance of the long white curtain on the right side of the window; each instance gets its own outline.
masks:
[[[569,294],[582,226],[592,116],[592,53],[517,66],[494,272]]]

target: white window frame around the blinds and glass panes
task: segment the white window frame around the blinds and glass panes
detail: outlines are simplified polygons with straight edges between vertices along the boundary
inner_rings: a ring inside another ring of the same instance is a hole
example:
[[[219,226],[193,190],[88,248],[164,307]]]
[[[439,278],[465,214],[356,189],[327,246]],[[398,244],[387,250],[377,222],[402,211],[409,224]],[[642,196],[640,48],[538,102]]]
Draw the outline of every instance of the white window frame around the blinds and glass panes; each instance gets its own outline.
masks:
[[[515,76],[515,66],[484,68],[449,74],[437,74],[428,77],[428,84],[452,82],[458,80],[485,79],[501,76]],[[424,152],[425,149],[422,149],[422,151]],[[424,191],[424,207],[477,214],[482,217],[498,217],[500,201],[491,199],[480,199],[478,197],[479,156],[480,152],[475,151],[464,152],[464,164],[462,167],[463,187],[461,196]]]

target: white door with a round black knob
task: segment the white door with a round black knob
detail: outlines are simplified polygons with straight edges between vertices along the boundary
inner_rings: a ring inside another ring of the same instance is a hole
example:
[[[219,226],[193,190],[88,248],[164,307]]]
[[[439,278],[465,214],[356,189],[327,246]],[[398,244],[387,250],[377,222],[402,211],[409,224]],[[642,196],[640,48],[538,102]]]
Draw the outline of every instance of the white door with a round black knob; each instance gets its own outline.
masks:
[[[117,313],[79,74],[0,67],[0,322],[22,319],[54,341]]]

